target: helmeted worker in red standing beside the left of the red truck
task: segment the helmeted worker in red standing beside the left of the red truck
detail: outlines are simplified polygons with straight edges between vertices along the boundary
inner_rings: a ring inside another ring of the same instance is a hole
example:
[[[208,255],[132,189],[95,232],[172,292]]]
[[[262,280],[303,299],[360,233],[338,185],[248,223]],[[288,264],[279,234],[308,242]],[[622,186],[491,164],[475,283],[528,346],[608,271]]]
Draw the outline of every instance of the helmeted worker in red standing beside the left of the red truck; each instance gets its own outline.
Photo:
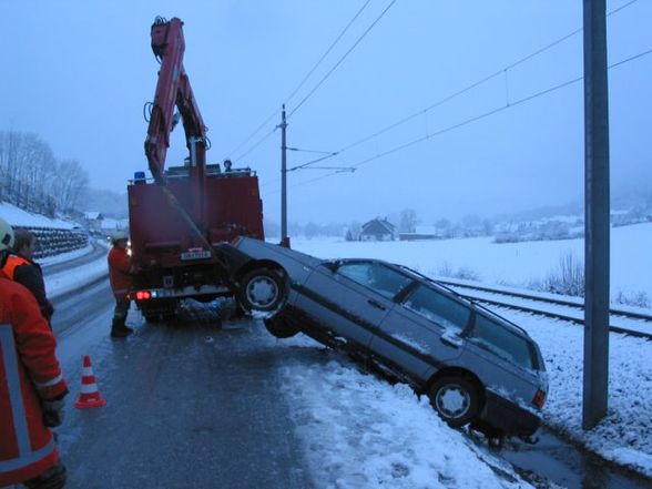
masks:
[[[115,309],[113,310],[113,323],[111,325],[111,336],[113,338],[123,338],[133,333],[133,329],[125,325],[130,306],[129,292],[133,285],[132,275],[134,272],[131,256],[126,252],[128,241],[126,233],[115,233],[111,240],[113,246],[108,258],[109,279],[115,297]]]

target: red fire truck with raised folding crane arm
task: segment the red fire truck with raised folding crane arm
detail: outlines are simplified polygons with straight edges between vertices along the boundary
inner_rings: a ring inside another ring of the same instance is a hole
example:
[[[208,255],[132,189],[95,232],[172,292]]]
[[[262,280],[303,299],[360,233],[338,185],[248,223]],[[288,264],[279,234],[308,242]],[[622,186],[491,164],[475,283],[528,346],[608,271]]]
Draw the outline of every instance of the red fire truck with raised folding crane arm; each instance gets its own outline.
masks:
[[[237,236],[264,240],[258,179],[249,169],[206,164],[206,126],[183,65],[183,22],[156,18],[152,50],[161,63],[145,154],[152,179],[128,186],[131,253],[137,274],[132,298],[147,320],[174,316],[182,299],[232,295],[214,247]],[[175,113],[175,109],[179,111]],[[189,155],[165,170],[170,134],[181,120]]]

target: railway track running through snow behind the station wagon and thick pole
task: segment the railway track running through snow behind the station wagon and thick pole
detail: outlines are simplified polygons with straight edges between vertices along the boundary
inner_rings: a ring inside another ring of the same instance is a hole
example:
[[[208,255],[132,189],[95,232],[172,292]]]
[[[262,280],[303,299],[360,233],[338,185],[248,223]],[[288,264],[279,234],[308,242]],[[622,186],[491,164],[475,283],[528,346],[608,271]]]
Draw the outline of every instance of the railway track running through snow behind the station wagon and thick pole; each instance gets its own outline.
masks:
[[[471,300],[584,324],[584,304],[581,298],[537,294],[509,287],[489,287],[449,278],[437,279],[437,282]],[[652,339],[652,315],[645,314],[644,310],[611,308],[609,329],[613,333]]]

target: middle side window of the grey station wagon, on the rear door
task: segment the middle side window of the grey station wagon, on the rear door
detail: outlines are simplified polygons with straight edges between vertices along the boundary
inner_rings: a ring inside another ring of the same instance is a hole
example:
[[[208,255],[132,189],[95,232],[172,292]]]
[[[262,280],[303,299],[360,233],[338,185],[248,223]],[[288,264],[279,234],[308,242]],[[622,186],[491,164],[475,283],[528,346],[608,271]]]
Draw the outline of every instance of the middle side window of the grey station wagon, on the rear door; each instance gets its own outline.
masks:
[[[445,328],[461,332],[469,324],[471,310],[463,304],[425,285],[406,298],[404,306]]]

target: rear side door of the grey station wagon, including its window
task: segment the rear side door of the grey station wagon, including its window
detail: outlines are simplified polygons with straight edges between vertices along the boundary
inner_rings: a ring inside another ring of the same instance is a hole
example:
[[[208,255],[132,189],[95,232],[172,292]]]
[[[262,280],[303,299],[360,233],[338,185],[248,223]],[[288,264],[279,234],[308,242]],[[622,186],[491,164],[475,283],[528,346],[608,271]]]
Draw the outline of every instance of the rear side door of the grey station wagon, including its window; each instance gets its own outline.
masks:
[[[422,377],[461,355],[471,309],[451,294],[418,282],[387,315],[371,342],[374,355],[409,377]]]

